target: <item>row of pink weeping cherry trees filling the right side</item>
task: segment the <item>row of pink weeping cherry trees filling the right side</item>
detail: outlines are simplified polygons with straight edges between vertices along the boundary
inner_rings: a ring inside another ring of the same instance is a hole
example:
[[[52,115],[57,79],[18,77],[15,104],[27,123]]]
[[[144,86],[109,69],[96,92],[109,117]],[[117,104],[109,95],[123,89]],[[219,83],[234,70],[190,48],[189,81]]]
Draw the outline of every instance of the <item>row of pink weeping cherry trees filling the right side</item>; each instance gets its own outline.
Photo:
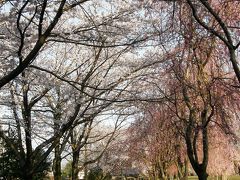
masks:
[[[156,2],[152,7],[165,6]],[[238,7],[239,2],[229,1],[173,2],[168,23],[175,27],[176,43],[164,47],[167,61],[151,67],[154,74],[150,69],[150,75],[139,78],[148,87],[154,83],[153,93],[162,100],[140,106],[143,115],[129,129],[129,157],[149,167],[153,179],[187,176],[186,159],[199,179],[207,179],[208,172],[234,173],[239,160]]]

